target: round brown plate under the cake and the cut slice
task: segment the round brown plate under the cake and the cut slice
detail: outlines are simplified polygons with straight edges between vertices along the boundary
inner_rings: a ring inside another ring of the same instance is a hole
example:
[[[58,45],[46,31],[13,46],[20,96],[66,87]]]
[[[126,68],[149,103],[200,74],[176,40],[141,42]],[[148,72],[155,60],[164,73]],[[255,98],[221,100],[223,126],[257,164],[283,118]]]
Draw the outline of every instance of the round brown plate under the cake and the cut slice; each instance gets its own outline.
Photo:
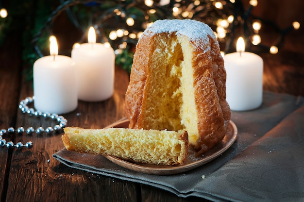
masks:
[[[106,128],[128,128],[129,120],[123,119],[115,122]],[[196,152],[192,147],[189,147],[189,155],[183,165],[177,166],[162,166],[162,165],[151,165],[151,164],[140,164],[131,161],[119,159],[114,156],[105,156],[107,159],[121,167],[135,170],[137,172],[153,174],[153,175],[171,175],[182,173],[187,170],[191,170],[206,164],[213,159],[217,158],[220,154],[228,150],[228,148],[235,142],[237,135],[237,128],[233,121],[230,120],[229,127],[226,135],[222,141],[215,145],[211,150],[205,152],[199,156],[196,156]]]

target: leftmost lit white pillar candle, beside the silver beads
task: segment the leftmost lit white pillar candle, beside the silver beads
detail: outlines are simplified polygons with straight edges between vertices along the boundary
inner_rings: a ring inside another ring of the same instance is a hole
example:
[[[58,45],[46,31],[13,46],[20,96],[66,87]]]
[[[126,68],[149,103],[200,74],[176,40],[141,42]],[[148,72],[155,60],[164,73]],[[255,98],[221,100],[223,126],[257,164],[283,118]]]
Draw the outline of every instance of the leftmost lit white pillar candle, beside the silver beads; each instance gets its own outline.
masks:
[[[58,55],[55,37],[50,37],[51,55],[34,63],[34,107],[41,112],[65,114],[77,107],[75,62]]]

